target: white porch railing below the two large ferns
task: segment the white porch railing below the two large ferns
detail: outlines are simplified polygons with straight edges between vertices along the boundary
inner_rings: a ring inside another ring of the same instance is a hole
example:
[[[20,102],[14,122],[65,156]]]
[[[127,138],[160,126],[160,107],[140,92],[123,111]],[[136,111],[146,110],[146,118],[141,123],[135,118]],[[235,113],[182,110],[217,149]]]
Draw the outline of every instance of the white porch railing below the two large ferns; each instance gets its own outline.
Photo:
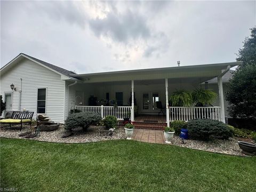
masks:
[[[169,107],[170,121],[210,118],[220,121],[220,107]]]

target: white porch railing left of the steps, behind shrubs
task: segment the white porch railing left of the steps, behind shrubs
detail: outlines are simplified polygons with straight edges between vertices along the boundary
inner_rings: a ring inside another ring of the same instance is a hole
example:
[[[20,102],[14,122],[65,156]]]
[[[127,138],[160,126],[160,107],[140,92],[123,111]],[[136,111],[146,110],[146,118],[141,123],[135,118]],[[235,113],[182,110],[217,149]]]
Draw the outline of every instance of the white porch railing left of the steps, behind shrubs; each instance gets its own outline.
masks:
[[[83,112],[94,112],[101,114],[102,118],[108,115],[115,116],[118,120],[122,120],[127,114],[132,114],[132,106],[75,106],[76,109]]]

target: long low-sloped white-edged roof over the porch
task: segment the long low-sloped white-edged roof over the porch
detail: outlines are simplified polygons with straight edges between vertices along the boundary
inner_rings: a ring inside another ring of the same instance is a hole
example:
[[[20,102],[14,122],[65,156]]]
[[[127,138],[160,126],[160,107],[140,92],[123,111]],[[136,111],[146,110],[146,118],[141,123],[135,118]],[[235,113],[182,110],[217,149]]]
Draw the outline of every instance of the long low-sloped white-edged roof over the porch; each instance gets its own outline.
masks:
[[[75,74],[70,76],[81,79],[84,83],[196,77],[208,80],[220,75],[221,71],[225,70],[227,66],[234,67],[240,63],[242,62],[110,71],[105,73]]]

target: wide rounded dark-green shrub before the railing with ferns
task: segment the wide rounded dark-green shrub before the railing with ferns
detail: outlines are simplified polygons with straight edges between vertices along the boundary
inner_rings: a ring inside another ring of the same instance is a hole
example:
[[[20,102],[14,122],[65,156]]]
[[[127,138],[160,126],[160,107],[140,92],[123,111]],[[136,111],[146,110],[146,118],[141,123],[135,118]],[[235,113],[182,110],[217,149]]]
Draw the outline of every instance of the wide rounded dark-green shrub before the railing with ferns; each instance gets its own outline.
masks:
[[[213,119],[193,119],[188,121],[187,129],[192,139],[209,140],[210,137],[228,139],[232,137],[229,127]]]

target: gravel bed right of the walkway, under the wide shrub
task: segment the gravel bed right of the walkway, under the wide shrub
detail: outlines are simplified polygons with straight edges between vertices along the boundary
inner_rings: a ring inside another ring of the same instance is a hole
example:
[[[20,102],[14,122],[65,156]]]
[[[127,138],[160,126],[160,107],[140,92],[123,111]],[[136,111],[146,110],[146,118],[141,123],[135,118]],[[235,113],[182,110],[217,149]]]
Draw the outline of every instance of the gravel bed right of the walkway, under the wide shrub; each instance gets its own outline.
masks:
[[[229,138],[228,140],[215,139],[210,141],[188,139],[184,140],[183,144],[179,137],[174,136],[171,142],[172,145],[180,147],[187,147],[191,149],[198,149],[221,154],[245,156],[242,154],[242,149],[239,148],[237,141],[238,140],[236,138]]]

